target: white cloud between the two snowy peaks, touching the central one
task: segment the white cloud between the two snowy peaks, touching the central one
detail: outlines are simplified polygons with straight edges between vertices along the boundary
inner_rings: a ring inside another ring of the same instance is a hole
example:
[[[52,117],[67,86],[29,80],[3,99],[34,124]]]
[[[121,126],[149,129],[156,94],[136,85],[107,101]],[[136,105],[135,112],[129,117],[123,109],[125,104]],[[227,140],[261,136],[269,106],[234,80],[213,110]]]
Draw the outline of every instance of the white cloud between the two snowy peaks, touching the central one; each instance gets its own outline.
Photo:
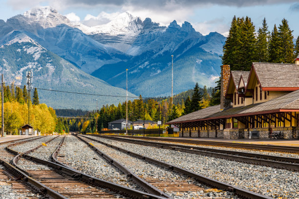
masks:
[[[119,14],[119,12],[107,13],[104,11],[102,11],[98,16],[87,14],[81,22],[87,26],[102,25],[108,23]]]

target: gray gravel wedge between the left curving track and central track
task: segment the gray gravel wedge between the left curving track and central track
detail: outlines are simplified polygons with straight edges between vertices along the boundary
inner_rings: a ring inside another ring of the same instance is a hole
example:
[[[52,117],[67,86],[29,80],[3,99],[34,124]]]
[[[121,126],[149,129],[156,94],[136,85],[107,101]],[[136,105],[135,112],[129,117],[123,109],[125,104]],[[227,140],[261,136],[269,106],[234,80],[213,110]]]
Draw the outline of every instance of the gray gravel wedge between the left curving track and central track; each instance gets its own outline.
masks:
[[[90,176],[144,191],[122,171],[98,156],[87,144],[75,136],[66,136],[59,151],[58,159]]]

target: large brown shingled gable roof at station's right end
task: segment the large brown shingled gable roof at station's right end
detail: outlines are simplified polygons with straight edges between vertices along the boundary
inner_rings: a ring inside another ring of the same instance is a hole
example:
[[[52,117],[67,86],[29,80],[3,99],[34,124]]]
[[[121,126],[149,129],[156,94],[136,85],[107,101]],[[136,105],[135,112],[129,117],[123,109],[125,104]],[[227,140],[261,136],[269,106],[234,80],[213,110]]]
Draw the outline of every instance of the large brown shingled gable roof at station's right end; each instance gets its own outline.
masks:
[[[297,64],[254,62],[248,81],[253,73],[256,74],[262,90],[295,91],[299,89],[299,65]]]

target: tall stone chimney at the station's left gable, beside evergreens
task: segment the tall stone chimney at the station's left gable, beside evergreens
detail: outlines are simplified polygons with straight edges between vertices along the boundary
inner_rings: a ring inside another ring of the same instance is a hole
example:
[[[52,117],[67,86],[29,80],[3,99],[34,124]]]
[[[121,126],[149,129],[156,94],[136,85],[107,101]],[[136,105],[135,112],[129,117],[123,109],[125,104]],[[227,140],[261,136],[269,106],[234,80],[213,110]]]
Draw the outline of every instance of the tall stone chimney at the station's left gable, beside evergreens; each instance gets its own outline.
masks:
[[[220,97],[220,109],[223,110],[231,105],[231,100],[225,99],[226,89],[231,76],[230,65],[221,66],[221,97]]]

